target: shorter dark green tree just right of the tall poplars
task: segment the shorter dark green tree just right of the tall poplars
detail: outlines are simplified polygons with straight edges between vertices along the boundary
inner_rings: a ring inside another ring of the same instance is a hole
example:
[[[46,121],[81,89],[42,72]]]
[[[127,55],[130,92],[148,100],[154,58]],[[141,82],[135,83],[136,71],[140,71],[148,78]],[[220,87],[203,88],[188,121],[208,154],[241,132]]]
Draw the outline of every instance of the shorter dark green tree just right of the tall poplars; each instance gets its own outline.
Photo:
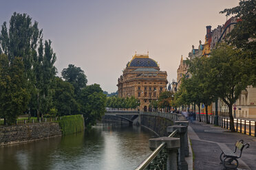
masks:
[[[74,99],[74,87],[56,77],[53,84],[53,106],[58,110],[58,116],[78,114],[79,104]]]

